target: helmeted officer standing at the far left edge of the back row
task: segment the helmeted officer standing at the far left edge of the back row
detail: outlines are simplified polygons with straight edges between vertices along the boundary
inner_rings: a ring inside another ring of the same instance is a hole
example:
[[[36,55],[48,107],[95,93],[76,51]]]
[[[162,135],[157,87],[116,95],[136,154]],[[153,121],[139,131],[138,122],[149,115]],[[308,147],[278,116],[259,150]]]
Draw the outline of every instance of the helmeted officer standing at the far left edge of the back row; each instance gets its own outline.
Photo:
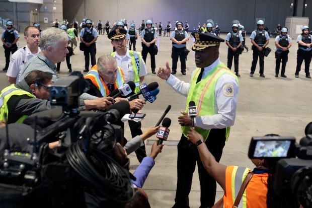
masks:
[[[17,51],[17,41],[20,36],[17,30],[13,27],[12,21],[7,21],[7,29],[2,32],[1,40],[3,42],[3,47],[5,48],[6,66],[2,69],[7,71],[10,63],[10,53],[15,53]]]

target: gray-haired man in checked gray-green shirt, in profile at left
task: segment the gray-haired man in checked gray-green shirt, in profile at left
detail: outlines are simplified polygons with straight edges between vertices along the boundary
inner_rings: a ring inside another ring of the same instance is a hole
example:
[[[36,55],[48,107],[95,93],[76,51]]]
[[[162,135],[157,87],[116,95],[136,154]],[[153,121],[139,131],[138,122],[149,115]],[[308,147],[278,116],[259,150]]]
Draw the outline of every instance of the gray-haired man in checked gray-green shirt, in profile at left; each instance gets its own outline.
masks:
[[[52,74],[52,81],[57,81],[59,77],[55,73],[55,63],[65,60],[68,53],[67,41],[67,34],[61,29],[51,27],[44,30],[40,41],[41,52],[25,64],[23,71],[21,71],[20,81],[24,80],[26,75],[33,70],[49,72]],[[93,108],[104,110],[112,104],[109,102],[112,98],[98,98],[87,93],[82,94],[80,98],[81,102],[84,102],[82,105],[85,104],[86,108],[92,106]]]

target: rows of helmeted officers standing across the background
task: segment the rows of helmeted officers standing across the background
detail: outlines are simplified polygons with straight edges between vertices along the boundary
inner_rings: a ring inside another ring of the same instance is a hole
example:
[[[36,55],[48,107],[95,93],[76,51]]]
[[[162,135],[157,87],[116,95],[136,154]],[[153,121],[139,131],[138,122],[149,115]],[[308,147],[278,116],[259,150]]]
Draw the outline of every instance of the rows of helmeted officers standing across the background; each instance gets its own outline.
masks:
[[[68,22],[67,22],[68,23]],[[198,30],[202,33],[210,33],[216,35],[213,31],[213,23],[207,22],[203,24],[202,27],[199,26]],[[70,48],[68,50],[72,50],[66,58],[67,67],[69,72],[71,72],[71,64],[70,64],[70,56],[74,55],[73,50],[77,47],[77,41],[81,40],[80,49],[84,51],[85,55],[85,69],[84,72],[89,72],[89,64],[91,59],[91,65],[94,66],[96,64],[96,41],[99,35],[104,35],[105,32],[108,34],[110,30],[110,22],[107,21],[105,24],[99,20],[98,24],[95,25],[94,22],[90,19],[83,19],[82,23],[79,24],[76,19],[73,20],[71,24],[60,25],[57,19],[52,23],[53,27],[58,27],[64,29],[68,33],[68,41],[70,43]],[[34,26],[40,30],[40,24],[34,23]],[[129,49],[133,47],[133,50],[136,51],[136,40],[138,38],[139,32],[141,32],[141,44],[142,44],[142,58],[146,62],[147,54],[150,55],[150,64],[151,64],[151,73],[155,74],[155,55],[157,55],[158,48],[155,42],[157,41],[157,36],[162,36],[163,25],[162,22],[157,25],[152,23],[151,20],[142,20],[139,25],[139,29],[137,30],[135,27],[135,23],[132,22],[128,27],[128,23],[126,20],[119,21],[114,24],[112,29],[125,29],[127,30],[126,35],[126,44],[129,44]],[[269,34],[263,29],[264,21],[259,20],[257,22],[257,29],[254,30],[250,36],[253,50],[253,61],[250,70],[250,77],[254,76],[256,65],[259,59],[260,66],[260,77],[265,78],[264,75],[264,57],[269,54],[271,49],[267,47],[269,44]],[[185,26],[183,27],[183,23],[180,21],[176,22],[175,30],[170,34],[172,25],[170,21],[168,21],[164,30],[167,32],[167,36],[170,36],[172,41],[172,74],[177,73],[177,63],[180,58],[181,62],[181,73],[182,75],[186,75],[186,60],[189,50],[186,47],[188,37],[189,24],[185,21]],[[105,30],[104,30],[105,29]],[[103,31],[102,31],[103,30]],[[281,27],[279,35],[275,38],[275,58],[276,58],[276,67],[275,67],[275,77],[279,76],[280,71],[280,63],[281,66],[281,74],[280,76],[286,78],[285,68],[288,60],[289,48],[291,47],[291,39],[287,35],[288,29],[286,27]],[[304,60],[305,67],[305,77],[310,78],[309,74],[309,64],[311,61],[311,35],[308,33],[308,26],[302,27],[302,33],[297,37],[298,50],[297,50],[297,66],[295,71],[295,77],[299,77],[299,72],[301,68],[301,64]],[[165,33],[164,33],[165,35]],[[6,57],[6,65],[3,68],[3,71],[7,71],[10,63],[10,53],[15,53],[18,50],[17,41],[19,40],[19,34],[13,27],[13,22],[7,22],[7,30],[4,30],[2,33],[2,42],[3,47],[5,48],[5,57]],[[228,46],[227,53],[227,67],[231,69],[232,60],[234,59],[234,67],[235,74],[240,77],[239,74],[239,56],[242,54],[244,48],[249,50],[246,46],[246,31],[243,25],[232,24],[232,31],[226,35],[226,45]],[[26,47],[23,48],[24,53],[31,52],[32,54],[36,54],[40,52],[39,50],[35,51],[26,51]],[[115,51],[115,47],[113,49]],[[20,51],[21,52],[21,51]],[[29,53],[30,54],[30,53]],[[14,60],[14,59],[13,59]],[[57,71],[59,71],[60,63],[57,65]],[[17,70],[15,70],[17,71]],[[9,77],[15,76],[16,73],[8,74]],[[12,77],[11,77],[12,78]]]

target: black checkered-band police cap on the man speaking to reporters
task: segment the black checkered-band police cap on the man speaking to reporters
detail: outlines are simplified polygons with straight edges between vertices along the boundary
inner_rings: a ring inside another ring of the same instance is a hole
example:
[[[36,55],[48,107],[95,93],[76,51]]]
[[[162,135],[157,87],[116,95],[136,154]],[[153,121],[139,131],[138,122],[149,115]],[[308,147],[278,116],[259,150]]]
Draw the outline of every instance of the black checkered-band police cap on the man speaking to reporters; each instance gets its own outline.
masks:
[[[201,51],[212,46],[219,46],[220,42],[224,42],[222,38],[210,33],[192,32],[191,35],[195,38],[193,51]]]

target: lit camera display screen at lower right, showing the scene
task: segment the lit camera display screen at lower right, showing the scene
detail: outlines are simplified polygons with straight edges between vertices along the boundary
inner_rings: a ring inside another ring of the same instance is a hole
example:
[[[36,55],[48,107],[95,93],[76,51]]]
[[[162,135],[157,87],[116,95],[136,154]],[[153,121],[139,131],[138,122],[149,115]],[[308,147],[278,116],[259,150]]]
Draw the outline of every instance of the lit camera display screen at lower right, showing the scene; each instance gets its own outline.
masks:
[[[291,141],[258,140],[254,152],[255,158],[285,158],[287,157]]]

